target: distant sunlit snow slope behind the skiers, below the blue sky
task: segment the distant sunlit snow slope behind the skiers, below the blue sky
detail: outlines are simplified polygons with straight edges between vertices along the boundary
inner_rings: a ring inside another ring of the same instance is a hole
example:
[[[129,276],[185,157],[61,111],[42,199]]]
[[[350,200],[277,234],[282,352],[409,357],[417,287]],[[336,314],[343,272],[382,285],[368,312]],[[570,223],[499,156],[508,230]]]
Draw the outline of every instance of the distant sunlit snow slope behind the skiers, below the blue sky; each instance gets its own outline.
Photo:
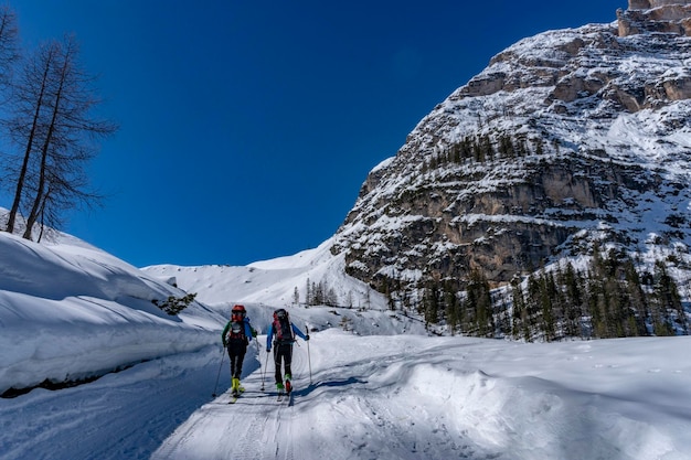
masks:
[[[419,319],[389,311],[384,296],[346,275],[343,257],[333,256],[330,247],[329,239],[315,249],[246,267],[158,265],[142,271],[159,279],[174,279],[180,288],[198,293],[198,300],[225,317],[233,304],[243,303],[259,331],[266,331],[276,308],[287,308],[300,328],[308,324],[317,331],[339,328],[365,335],[427,334]],[[332,289],[344,303],[306,307],[305,292],[312,282]]]

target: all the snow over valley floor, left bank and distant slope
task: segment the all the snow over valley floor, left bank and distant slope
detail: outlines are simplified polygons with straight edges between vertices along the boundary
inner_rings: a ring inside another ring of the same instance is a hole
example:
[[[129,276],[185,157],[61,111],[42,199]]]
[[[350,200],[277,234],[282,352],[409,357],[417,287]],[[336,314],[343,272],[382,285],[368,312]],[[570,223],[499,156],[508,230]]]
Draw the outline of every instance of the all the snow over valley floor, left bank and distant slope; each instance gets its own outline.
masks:
[[[0,398],[0,457],[691,457],[691,338],[440,338],[372,292],[366,311],[290,304],[283,297],[308,278],[363,289],[327,247],[247,267],[139,270],[68,235],[0,233],[2,389],[96,378]],[[173,277],[198,293],[179,317],[150,302],[184,293]],[[219,334],[235,302],[262,334],[231,406]],[[281,403],[264,344],[276,307],[311,338],[295,346],[296,389]]]

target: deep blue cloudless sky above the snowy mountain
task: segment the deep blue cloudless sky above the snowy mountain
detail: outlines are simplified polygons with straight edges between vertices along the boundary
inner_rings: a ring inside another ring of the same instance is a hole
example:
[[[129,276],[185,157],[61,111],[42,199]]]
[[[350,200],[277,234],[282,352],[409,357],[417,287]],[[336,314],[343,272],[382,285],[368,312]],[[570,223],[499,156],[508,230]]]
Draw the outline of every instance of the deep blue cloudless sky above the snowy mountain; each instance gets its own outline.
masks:
[[[18,0],[24,45],[75,33],[118,122],[105,206],[66,232],[142,267],[246,265],[336,233],[368,172],[518,40],[626,0]],[[9,207],[6,196],[0,206]]]

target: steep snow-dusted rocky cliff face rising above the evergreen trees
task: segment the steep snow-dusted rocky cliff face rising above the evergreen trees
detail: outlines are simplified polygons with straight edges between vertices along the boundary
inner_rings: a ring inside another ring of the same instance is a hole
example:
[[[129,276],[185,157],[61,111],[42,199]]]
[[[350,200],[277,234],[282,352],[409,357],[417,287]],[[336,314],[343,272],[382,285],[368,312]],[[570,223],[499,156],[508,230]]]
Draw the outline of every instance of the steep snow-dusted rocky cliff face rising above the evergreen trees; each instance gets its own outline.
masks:
[[[370,173],[334,237],[347,271],[501,285],[595,243],[691,261],[691,39],[657,24],[689,3],[630,0],[495,56]]]

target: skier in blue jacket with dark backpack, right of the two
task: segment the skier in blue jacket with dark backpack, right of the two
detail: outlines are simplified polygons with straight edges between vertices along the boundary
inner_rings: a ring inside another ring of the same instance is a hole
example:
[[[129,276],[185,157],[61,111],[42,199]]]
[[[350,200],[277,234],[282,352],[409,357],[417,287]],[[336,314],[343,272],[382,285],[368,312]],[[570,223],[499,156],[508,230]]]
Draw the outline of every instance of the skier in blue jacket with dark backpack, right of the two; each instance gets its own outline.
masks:
[[[283,393],[284,388],[286,393],[290,393],[293,386],[290,384],[291,370],[290,364],[293,362],[293,343],[295,343],[295,335],[298,335],[302,340],[309,340],[309,334],[304,334],[290,319],[288,312],[280,308],[274,312],[274,321],[268,328],[268,334],[266,336],[266,352],[272,351],[272,340],[274,340],[274,362],[276,363],[276,389],[278,393]],[[280,373],[281,361],[286,367],[286,383]]]

